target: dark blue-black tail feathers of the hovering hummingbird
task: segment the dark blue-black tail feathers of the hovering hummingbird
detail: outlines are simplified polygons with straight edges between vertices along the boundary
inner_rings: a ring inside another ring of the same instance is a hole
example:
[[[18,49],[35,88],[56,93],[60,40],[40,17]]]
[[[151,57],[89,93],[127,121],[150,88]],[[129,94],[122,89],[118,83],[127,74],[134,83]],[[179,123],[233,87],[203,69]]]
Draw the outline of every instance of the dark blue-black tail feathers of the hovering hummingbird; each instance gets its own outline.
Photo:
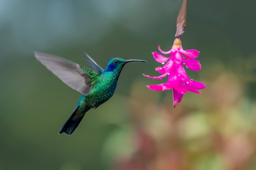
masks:
[[[83,119],[83,115],[81,117],[72,120],[74,116],[76,116],[77,109],[79,108],[79,105],[73,110],[71,116],[67,119],[65,124],[62,126],[61,130],[58,132],[58,134],[65,133],[66,135],[71,135],[76,127],[79,125],[80,121]]]

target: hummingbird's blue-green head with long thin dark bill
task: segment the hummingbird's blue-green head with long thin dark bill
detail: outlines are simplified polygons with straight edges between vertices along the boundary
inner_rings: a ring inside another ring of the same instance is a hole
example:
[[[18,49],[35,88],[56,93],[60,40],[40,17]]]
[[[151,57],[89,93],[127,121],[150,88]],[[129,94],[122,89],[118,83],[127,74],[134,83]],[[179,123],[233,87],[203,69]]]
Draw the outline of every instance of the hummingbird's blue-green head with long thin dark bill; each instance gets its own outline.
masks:
[[[118,71],[121,72],[124,65],[128,62],[147,62],[145,60],[125,60],[123,58],[111,58],[106,66],[105,71]]]

